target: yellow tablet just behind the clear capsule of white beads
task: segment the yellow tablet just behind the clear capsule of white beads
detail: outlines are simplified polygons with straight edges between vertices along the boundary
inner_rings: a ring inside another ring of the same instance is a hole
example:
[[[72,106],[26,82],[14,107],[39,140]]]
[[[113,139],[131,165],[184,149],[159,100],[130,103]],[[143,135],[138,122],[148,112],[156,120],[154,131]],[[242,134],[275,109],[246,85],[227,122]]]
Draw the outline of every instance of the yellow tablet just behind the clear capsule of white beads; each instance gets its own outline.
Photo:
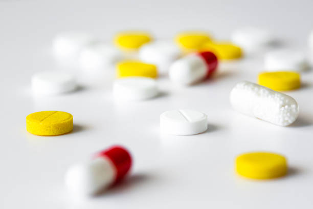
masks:
[[[263,72],[258,84],[275,91],[290,91],[300,88],[300,74],[292,71]]]

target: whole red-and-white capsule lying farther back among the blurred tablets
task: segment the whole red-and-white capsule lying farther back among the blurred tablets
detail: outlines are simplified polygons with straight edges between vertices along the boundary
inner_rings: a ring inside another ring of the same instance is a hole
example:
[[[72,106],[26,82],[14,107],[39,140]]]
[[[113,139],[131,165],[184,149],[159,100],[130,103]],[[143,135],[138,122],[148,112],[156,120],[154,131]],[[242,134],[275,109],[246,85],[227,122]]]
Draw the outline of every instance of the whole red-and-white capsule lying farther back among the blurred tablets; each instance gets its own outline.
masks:
[[[181,85],[192,85],[210,77],[216,68],[217,57],[212,52],[189,54],[173,62],[169,77]]]

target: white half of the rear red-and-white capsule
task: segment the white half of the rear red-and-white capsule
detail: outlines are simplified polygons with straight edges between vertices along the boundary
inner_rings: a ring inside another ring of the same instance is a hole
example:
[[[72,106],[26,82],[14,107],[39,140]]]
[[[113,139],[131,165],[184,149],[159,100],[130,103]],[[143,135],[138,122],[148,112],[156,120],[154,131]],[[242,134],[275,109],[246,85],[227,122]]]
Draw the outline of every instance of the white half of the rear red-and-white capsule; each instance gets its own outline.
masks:
[[[169,78],[181,85],[192,85],[207,75],[206,61],[196,54],[177,59],[170,66]]]

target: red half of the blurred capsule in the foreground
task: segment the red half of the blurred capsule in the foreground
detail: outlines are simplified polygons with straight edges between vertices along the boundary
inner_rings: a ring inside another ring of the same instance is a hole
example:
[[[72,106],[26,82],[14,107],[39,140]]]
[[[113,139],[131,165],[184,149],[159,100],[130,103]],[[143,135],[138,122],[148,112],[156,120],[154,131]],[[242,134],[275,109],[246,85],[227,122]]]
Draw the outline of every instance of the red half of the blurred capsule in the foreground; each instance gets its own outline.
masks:
[[[96,157],[107,157],[114,164],[117,174],[115,183],[120,181],[130,170],[132,160],[129,152],[120,146],[113,146],[96,154]]]

